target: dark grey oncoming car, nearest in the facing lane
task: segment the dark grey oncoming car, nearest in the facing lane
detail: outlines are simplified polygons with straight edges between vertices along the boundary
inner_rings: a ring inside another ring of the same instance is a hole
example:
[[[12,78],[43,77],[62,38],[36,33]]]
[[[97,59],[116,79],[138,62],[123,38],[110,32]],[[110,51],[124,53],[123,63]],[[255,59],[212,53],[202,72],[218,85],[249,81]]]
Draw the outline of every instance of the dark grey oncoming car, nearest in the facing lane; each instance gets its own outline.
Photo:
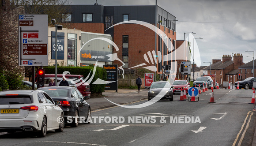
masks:
[[[160,81],[160,82],[152,82],[150,89],[148,91],[148,100],[150,101],[152,98],[157,96],[163,88],[168,88],[166,94],[161,98],[162,99],[169,99],[173,101],[173,90],[169,82]]]

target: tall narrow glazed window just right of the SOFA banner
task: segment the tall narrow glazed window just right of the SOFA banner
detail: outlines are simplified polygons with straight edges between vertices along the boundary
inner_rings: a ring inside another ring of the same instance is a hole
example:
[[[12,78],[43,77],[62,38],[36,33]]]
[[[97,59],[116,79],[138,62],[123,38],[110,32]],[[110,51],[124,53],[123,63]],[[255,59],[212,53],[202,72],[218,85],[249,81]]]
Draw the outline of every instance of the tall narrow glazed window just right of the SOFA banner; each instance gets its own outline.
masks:
[[[68,66],[76,66],[77,34],[68,33]]]

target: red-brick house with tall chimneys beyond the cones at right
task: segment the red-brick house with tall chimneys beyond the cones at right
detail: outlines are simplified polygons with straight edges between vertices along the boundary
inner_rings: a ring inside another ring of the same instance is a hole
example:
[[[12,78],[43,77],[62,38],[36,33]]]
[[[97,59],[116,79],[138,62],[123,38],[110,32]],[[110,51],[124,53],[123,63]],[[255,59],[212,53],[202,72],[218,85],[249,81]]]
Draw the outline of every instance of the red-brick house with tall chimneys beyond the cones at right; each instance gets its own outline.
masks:
[[[204,70],[207,70],[207,74],[215,74],[215,81],[222,85],[225,81],[237,81],[238,67],[243,64],[243,56],[240,53],[234,54],[233,60],[231,55],[223,55],[222,61],[219,59],[212,60],[211,72],[210,66]]]

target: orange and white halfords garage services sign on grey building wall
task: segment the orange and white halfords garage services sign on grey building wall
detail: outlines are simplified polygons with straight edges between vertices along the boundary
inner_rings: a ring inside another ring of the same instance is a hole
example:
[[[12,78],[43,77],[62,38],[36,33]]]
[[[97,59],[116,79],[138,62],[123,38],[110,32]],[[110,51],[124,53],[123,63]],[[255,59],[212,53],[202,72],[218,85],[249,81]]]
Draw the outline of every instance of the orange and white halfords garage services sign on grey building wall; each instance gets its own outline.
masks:
[[[109,57],[106,56],[112,52],[105,51],[91,51],[91,50],[81,50],[81,60],[85,61],[100,61],[108,62]]]

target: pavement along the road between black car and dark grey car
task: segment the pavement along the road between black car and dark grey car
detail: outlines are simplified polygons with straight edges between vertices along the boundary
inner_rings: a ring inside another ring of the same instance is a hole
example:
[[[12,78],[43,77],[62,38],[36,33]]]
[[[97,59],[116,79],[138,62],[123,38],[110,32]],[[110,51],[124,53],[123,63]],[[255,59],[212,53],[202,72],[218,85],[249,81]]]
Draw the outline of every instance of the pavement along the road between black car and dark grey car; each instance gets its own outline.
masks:
[[[106,90],[105,92],[102,92],[102,96],[92,97],[87,100],[87,102],[90,104],[91,111],[94,111],[97,109],[104,109],[116,106],[109,101],[124,105],[134,101],[147,99],[147,91],[148,90],[142,89],[140,90],[140,93],[138,93],[138,90],[128,89],[119,89],[118,92],[114,90]],[[109,101],[107,101],[105,98],[107,98]]]

